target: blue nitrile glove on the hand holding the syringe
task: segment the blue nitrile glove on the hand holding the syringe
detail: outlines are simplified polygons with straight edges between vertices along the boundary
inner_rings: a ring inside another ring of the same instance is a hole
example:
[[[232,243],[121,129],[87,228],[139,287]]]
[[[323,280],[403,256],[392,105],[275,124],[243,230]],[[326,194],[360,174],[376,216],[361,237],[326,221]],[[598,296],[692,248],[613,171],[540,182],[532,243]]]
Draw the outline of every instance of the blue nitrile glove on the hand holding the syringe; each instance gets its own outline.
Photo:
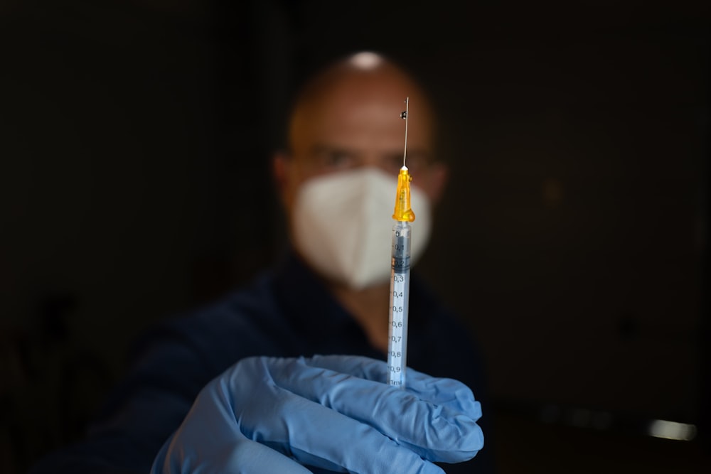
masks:
[[[205,385],[151,473],[437,473],[483,446],[479,402],[452,379],[355,356],[250,357]]]

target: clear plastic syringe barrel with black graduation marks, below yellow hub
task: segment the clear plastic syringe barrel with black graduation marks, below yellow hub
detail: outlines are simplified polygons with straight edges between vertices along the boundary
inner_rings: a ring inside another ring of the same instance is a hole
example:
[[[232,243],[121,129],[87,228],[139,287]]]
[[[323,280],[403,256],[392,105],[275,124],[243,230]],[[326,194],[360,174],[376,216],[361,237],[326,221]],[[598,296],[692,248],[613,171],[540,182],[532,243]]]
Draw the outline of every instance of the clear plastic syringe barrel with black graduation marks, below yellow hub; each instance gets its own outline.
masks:
[[[407,315],[410,302],[410,222],[392,225],[390,317],[388,318],[387,383],[404,389],[407,365]]]

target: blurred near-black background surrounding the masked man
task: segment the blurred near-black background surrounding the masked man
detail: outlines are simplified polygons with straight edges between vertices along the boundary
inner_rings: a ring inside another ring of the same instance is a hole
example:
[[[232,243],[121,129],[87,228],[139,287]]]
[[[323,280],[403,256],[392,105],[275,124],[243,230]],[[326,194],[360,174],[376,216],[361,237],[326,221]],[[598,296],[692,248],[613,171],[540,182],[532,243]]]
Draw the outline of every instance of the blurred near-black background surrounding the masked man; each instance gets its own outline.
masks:
[[[648,3],[1,1],[0,471],[277,259],[289,94],[373,49],[441,113],[416,271],[481,345],[501,472],[707,472],[709,16]]]

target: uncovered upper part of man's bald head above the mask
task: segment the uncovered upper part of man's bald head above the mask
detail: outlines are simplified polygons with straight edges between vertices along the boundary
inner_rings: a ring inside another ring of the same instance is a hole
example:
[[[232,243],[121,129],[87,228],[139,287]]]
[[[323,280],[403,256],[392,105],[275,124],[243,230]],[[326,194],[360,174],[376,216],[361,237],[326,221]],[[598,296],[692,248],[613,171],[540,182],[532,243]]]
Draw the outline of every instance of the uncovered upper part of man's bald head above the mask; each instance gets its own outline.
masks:
[[[432,107],[415,80],[374,53],[358,53],[319,72],[301,89],[289,119],[289,151],[274,173],[287,213],[301,183],[325,173],[372,166],[392,176],[402,166],[410,97],[407,167],[432,201],[444,183],[434,162]]]

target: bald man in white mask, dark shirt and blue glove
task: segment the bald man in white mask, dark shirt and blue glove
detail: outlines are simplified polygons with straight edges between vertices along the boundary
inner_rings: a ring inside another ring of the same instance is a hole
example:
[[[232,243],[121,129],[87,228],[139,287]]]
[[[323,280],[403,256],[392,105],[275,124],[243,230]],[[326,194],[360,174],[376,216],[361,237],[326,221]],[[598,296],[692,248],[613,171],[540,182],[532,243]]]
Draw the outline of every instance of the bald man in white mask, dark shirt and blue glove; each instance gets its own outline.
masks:
[[[479,402],[464,384],[430,377],[459,379],[476,393],[476,355],[414,277],[414,370],[405,390],[382,383],[404,139],[397,117],[407,96],[417,259],[446,178],[434,160],[432,110],[395,65],[353,55],[306,84],[289,149],[274,159],[293,254],[249,288],[146,338],[87,440],[35,473],[144,473],[151,465],[155,473],[439,473],[435,462],[476,455]],[[348,356],[317,356],[329,354]],[[479,458],[446,470],[471,472]]]

